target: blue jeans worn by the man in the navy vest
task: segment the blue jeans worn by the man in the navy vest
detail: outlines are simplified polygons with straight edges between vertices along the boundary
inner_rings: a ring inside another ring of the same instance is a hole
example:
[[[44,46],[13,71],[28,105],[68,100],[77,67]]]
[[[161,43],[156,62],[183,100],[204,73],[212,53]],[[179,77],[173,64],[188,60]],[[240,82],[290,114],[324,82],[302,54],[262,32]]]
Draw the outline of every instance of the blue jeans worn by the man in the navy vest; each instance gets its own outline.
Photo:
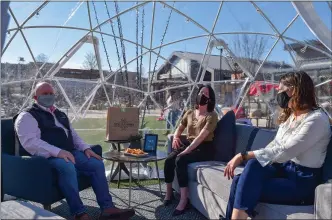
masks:
[[[58,184],[65,196],[72,215],[85,212],[85,207],[79,196],[77,172],[91,178],[92,189],[96,194],[101,210],[114,207],[112,196],[108,191],[104,163],[96,158],[87,158],[81,151],[73,151],[75,164],[62,158],[49,158],[49,163],[58,174]]]

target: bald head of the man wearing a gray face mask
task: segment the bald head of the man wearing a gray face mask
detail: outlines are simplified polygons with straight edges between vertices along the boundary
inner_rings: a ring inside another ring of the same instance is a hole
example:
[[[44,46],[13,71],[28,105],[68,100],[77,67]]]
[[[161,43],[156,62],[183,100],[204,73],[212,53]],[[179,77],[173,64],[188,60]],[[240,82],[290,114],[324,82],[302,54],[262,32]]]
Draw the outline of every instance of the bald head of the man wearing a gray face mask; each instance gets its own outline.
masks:
[[[47,82],[39,82],[35,87],[35,96],[33,97],[38,104],[49,108],[54,104],[54,89]]]

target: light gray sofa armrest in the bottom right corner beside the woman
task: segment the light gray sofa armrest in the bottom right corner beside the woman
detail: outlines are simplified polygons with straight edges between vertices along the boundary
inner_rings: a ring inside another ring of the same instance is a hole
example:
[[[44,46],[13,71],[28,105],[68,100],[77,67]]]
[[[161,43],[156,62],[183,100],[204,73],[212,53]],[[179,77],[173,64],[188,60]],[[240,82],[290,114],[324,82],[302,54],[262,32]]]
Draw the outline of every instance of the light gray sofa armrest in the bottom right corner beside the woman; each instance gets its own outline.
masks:
[[[315,190],[315,219],[332,219],[332,182],[321,184]]]

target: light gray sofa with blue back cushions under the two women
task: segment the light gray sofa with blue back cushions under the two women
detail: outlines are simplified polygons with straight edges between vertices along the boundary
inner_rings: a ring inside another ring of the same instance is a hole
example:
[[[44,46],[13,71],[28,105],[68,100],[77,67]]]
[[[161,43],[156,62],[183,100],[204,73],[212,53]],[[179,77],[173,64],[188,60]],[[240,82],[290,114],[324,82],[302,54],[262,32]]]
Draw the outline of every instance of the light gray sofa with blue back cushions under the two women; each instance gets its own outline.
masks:
[[[275,136],[276,131],[258,129],[247,125],[236,125],[235,154],[243,149],[255,150],[265,147]],[[222,146],[220,146],[222,147]],[[331,169],[331,143],[324,166]],[[169,152],[171,149],[169,149]],[[330,161],[326,163],[326,161]],[[188,165],[191,204],[209,219],[225,217],[232,180],[224,177],[226,161],[198,162]],[[325,168],[326,169],[326,168]],[[243,167],[235,170],[241,173]],[[331,173],[331,172],[330,172]],[[331,177],[331,174],[329,174]],[[325,177],[326,179],[326,177]],[[327,181],[325,181],[327,182]],[[173,189],[179,192],[177,179]],[[289,206],[260,203],[256,211],[257,219],[332,219],[332,183],[321,184],[316,188],[315,204],[311,206]]]

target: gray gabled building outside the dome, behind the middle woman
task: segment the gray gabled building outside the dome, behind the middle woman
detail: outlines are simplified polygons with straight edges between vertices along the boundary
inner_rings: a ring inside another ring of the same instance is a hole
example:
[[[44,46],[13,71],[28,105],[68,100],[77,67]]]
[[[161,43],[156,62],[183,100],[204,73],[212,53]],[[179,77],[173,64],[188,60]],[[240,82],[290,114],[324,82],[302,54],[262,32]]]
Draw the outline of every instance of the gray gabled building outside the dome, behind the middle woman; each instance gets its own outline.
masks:
[[[204,54],[190,53],[175,51],[171,54],[166,61],[157,71],[156,79],[153,81],[153,87],[155,90],[159,90],[165,87],[178,86],[198,80],[201,78],[202,69],[198,74],[200,63]],[[250,60],[246,58],[240,58],[241,64],[245,65],[251,72],[255,72],[260,63],[260,60]],[[172,65],[171,65],[172,64]],[[292,68],[291,65],[266,61],[257,75],[256,80],[265,81],[271,80],[271,73],[279,71],[280,69]],[[180,71],[181,70],[181,71]],[[266,79],[266,77],[268,79]],[[211,55],[207,64],[206,74],[203,81],[212,82],[212,87],[216,92],[217,103],[222,103],[223,106],[232,106],[238,96],[243,81],[229,82],[230,80],[243,80],[245,75],[240,69],[239,65],[235,63],[230,57],[219,55]],[[227,82],[222,82],[228,80]],[[214,82],[214,83],[213,83]],[[188,97],[188,93],[192,87],[183,87],[179,90],[183,97]],[[161,94],[156,97],[161,99],[160,102],[165,102],[165,97]],[[194,100],[191,100],[194,103]]]

